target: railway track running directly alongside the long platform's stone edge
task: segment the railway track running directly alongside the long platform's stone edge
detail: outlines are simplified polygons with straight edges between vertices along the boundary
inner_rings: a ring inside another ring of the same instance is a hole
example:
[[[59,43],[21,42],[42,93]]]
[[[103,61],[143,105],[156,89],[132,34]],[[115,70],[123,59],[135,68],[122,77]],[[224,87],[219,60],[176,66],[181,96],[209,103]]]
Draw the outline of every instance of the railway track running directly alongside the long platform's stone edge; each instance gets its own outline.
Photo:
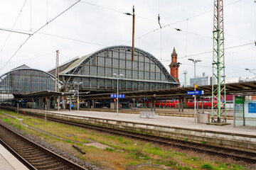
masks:
[[[36,115],[33,113],[27,113],[27,115],[32,115],[38,118],[44,118],[43,115]],[[101,127],[98,125],[89,125],[85,123],[77,123],[68,120],[62,120],[57,118],[50,118],[48,120],[52,120],[58,123],[64,123],[67,125],[74,125],[80,128],[90,128],[93,130],[99,130],[100,132],[109,132],[114,135],[122,135],[125,137],[131,137],[138,140],[145,140],[147,142],[157,142],[161,145],[171,145],[175,147],[180,147],[183,149],[193,149],[194,151],[206,152],[209,154],[221,155],[224,157],[233,157],[234,159],[243,160],[245,162],[256,163],[256,152],[247,152],[238,149],[224,148],[213,145],[199,144],[196,142],[188,142],[183,140],[175,140],[170,139],[168,137],[159,137],[154,135],[146,135],[138,132],[130,132],[127,130],[119,130],[113,128]]]

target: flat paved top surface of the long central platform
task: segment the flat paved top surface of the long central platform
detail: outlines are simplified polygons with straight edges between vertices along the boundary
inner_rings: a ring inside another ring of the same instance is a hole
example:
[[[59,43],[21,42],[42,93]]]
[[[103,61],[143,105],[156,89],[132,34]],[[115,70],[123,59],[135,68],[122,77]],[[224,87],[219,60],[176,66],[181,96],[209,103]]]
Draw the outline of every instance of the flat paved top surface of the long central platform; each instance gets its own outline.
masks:
[[[33,110],[33,109],[26,109]],[[38,111],[38,110],[36,110]],[[204,123],[195,123],[194,118],[183,118],[174,116],[161,116],[156,115],[156,118],[139,118],[139,114],[129,114],[129,113],[109,113],[109,112],[97,112],[97,111],[48,111],[52,113],[61,113],[66,115],[80,115],[91,118],[104,118],[111,120],[122,120],[122,121],[132,121],[136,123],[148,123],[153,125],[166,125],[171,127],[179,128],[189,128],[189,129],[199,129],[199,130],[211,130],[215,132],[230,132],[243,135],[255,135],[256,136],[256,126],[233,126],[233,120],[227,120],[231,125],[206,125]]]

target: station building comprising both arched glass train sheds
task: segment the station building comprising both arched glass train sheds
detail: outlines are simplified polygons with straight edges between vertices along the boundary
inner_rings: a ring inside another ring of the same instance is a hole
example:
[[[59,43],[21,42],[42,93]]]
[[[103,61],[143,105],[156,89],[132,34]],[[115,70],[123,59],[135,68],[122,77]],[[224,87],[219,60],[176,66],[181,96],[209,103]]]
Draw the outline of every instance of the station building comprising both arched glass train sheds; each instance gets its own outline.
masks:
[[[174,53],[174,52],[173,52]],[[175,52],[176,53],[176,52]],[[22,95],[40,91],[116,92],[172,89],[179,86],[178,77],[172,77],[163,64],[149,52],[118,45],[105,47],[90,55],[76,57],[60,64],[59,81],[48,72],[32,69],[25,64],[1,75],[1,100],[22,98]],[[176,75],[176,74],[175,74]],[[80,86],[75,85],[80,83]],[[55,89],[56,84],[60,89]]]

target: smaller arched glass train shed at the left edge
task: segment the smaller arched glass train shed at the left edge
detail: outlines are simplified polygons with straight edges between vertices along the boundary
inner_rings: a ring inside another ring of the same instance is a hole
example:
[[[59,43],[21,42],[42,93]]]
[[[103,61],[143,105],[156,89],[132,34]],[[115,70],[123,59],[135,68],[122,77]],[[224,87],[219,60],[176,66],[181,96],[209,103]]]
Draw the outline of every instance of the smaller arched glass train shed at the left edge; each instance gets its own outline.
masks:
[[[38,69],[14,69],[0,77],[0,94],[55,91],[55,77]]]

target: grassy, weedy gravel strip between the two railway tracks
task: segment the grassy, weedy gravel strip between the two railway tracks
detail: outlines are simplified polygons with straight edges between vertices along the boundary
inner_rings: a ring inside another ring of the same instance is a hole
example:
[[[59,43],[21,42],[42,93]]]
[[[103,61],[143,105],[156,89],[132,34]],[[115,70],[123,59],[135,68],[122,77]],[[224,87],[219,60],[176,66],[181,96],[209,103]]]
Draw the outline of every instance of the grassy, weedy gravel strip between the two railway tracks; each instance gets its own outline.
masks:
[[[4,111],[10,115],[14,115],[23,119],[23,123],[38,128],[40,130],[49,132],[60,138],[46,135],[43,132],[37,132],[30,128],[25,128],[18,123],[18,120],[11,118],[7,115],[0,113],[0,118],[5,123],[13,125],[16,128],[23,130],[31,135],[37,135],[42,140],[51,143],[61,148],[66,148],[72,154],[75,154],[80,159],[101,166],[102,169],[126,169],[126,166],[136,164],[161,164],[164,166],[170,166],[174,169],[181,170],[200,170],[200,169],[215,169],[215,170],[240,170],[245,169],[241,165],[235,165],[222,162],[223,160],[215,161],[212,163],[212,156],[204,157],[198,154],[190,154],[190,152],[177,150],[163,145],[154,145],[149,142],[142,142],[140,140],[132,140],[127,137],[119,137],[110,135],[105,132],[98,132],[90,129],[82,129],[70,125],[63,125],[60,123],[54,123],[45,121],[43,119],[37,119],[30,116],[23,116],[14,112]],[[188,141],[188,138],[184,139]],[[100,143],[106,145],[105,149],[100,149],[97,145],[88,145],[92,143]],[[205,141],[201,142],[206,144]],[[72,145],[78,145],[80,149],[86,152],[81,154]],[[106,157],[107,155],[107,157]],[[202,158],[203,157],[203,158]],[[221,162],[220,162],[221,161]]]

